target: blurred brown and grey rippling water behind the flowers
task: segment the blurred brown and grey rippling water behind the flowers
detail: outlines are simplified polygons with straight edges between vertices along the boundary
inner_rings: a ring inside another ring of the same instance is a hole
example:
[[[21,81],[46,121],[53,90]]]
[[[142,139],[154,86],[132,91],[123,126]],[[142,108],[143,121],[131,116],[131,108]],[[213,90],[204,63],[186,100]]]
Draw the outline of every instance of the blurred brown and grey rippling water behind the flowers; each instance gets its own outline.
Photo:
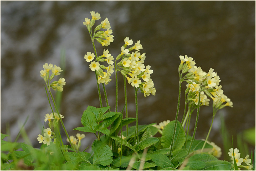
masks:
[[[81,116],[88,105],[100,106],[95,75],[84,59],[87,52],[93,52],[88,30],[83,25],[86,17],[91,18],[92,10],[101,15],[95,25],[107,17],[114,36],[108,47],[95,41],[97,53],[109,49],[115,58],[126,36],[134,43],[140,40],[143,46],[140,52],[146,53],[145,65],[151,65],[154,72],[151,78],[156,95],[147,98],[142,93],[138,95],[139,124],[175,119],[178,56],[188,55],[202,70],[208,72],[212,67],[218,73],[224,94],[233,101],[233,108],[218,111],[209,140],[225,152],[228,149],[224,149],[221,135],[226,130],[229,141],[233,135],[235,148],[240,144],[248,152],[254,150],[255,1],[1,1],[1,133],[11,134],[9,140],[14,141],[29,116],[24,128],[33,146],[40,147],[37,135],[41,134],[44,116],[51,109],[39,72],[44,63],[60,66],[61,53],[66,64],[61,77],[66,79],[66,85],[60,113],[65,116],[63,122],[69,135],[81,133],[73,129],[82,126]],[[111,79],[106,91],[109,105],[114,109],[114,74]],[[120,73],[118,84],[121,111],[124,88]],[[185,88],[183,83],[179,121],[184,110]],[[127,96],[128,115],[135,117],[134,88],[129,84]],[[206,138],[212,121],[211,106],[212,101],[210,106],[200,108],[196,139]],[[195,115],[196,111],[191,124]],[[221,117],[226,129],[221,127]],[[244,133],[250,128],[252,134]],[[250,140],[252,135],[254,141]],[[80,150],[94,139],[93,133],[87,133]],[[18,140],[21,141],[22,138]]]

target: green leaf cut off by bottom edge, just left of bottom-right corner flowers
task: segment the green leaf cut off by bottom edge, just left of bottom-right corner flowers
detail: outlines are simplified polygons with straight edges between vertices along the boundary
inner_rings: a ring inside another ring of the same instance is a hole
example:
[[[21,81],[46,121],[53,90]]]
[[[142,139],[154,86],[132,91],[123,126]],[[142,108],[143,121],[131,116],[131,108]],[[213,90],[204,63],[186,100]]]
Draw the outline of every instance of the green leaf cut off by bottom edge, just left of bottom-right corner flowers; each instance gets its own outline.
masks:
[[[206,166],[202,170],[230,170],[231,163],[223,160],[205,162]]]

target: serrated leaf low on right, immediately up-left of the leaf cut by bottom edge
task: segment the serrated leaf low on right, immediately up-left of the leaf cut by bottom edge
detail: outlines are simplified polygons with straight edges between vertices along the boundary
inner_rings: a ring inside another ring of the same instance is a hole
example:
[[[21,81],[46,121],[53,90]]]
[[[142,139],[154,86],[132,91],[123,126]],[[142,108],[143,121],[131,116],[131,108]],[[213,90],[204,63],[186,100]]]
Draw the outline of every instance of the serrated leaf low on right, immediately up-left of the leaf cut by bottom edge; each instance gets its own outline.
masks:
[[[206,154],[195,154],[188,159],[187,166],[196,170],[202,169],[206,166],[205,162],[202,161],[205,157],[207,157]]]

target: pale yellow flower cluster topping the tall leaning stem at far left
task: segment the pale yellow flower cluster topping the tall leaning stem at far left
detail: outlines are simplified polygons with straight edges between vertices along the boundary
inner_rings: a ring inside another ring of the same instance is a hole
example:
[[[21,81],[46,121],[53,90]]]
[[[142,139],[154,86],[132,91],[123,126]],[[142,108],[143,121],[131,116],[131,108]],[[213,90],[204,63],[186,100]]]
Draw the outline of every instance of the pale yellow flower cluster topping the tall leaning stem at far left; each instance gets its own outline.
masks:
[[[58,81],[53,81],[52,83],[50,83],[50,81],[52,81],[55,75],[60,75],[60,72],[62,72],[63,70],[57,65],[54,65],[53,67],[53,64],[48,65],[48,63],[45,63],[43,65],[43,68],[44,70],[40,71],[40,76],[44,79],[47,88],[50,89],[50,87],[52,87],[53,90],[58,90],[59,92],[62,92],[63,86],[66,85],[65,78],[59,78]],[[49,71],[52,71],[51,75]]]

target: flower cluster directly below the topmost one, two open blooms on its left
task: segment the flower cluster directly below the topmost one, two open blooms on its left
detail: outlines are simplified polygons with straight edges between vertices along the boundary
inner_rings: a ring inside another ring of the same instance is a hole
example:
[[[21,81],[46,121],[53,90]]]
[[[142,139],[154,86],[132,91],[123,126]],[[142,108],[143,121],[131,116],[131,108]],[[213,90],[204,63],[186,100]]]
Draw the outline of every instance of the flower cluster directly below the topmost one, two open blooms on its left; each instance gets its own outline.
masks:
[[[94,57],[95,55],[91,52],[87,52],[87,54],[84,55],[84,59],[87,62],[92,61]],[[96,72],[96,75],[98,77],[98,83],[108,84],[111,81],[110,75],[114,72],[113,60],[114,57],[109,53],[109,50],[104,49],[103,55],[98,56],[98,58],[95,59],[95,61],[91,62],[91,64],[89,65],[90,69]],[[100,65],[99,62],[107,62],[107,65]],[[103,70],[105,70],[106,72]]]

